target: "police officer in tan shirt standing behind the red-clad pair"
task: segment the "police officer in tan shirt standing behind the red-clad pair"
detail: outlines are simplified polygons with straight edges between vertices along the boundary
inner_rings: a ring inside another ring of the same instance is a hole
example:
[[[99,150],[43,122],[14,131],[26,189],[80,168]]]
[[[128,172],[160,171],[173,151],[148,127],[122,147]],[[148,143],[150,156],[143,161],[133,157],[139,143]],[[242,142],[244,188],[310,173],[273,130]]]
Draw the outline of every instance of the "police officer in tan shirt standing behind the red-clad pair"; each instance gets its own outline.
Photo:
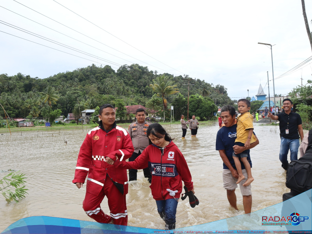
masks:
[[[131,123],[128,129],[134,147],[134,153],[129,158],[129,162],[134,161],[149,146],[149,138],[147,137],[146,130],[152,123],[145,121],[145,110],[143,108],[136,110],[135,118],[137,121]],[[136,169],[129,169],[129,181],[137,180],[137,172],[138,170]],[[143,173],[144,177],[148,178],[149,183],[152,183],[152,174],[149,168],[144,168]]]

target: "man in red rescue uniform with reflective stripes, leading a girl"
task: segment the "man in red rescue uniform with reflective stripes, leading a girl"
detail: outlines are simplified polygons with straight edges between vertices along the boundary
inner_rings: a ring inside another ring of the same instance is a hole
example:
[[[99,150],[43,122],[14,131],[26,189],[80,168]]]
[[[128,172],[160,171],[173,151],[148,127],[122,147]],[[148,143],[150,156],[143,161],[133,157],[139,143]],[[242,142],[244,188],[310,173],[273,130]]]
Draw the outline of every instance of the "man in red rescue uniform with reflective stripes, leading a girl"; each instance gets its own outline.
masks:
[[[80,147],[73,183],[81,188],[88,174],[82,203],[86,214],[96,222],[110,223],[113,220],[114,224],[126,226],[127,170],[115,166],[130,158],[134,148],[128,132],[116,125],[112,105],[102,105],[99,114],[99,126],[90,130]],[[105,196],[110,215],[105,214],[100,206]]]

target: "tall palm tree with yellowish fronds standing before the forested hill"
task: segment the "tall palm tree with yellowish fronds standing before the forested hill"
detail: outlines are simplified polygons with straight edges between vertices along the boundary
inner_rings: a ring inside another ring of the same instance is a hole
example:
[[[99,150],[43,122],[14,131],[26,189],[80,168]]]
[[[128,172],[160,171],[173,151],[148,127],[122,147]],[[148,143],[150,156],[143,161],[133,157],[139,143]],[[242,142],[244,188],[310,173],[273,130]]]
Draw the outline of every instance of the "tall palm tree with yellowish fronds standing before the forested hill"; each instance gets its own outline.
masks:
[[[154,81],[154,84],[149,85],[153,88],[154,92],[157,93],[157,96],[161,96],[163,99],[163,122],[165,122],[165,110],[167,106],[167,99],[169,95],[178,93],[178,89],[173,85],[172,77],[169,76],[158,76]]]

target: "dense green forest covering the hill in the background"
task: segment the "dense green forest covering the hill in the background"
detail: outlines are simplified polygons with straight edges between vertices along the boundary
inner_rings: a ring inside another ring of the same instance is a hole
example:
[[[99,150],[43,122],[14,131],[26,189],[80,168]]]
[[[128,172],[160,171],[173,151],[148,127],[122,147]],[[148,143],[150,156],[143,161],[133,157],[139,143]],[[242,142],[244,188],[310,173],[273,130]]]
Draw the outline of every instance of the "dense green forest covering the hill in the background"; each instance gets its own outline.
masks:
[[[78,113],[95,109],[105,103],[115,107],[143,105],[155,110],[158,116],[170,116],[174,106],[174,119],[187,113],[188,75],[158,74],[138,64],[123,65],[117,71],[110,66],[91,66],[58,73],[45,79],[18,73],[0,75],[0,103],[10,118],[53,118],[61,113]],[[189,86],[190,115],[210,119],[217,106],[234,105],[223,85],[204,80],[192,80]],[[80,109],[80,110],[79,110]],[[121,108],[122,109],[122,108]],[[124,117],[119,111],[119,117]],[[5,118],[0,108],[1,118]],[[167,118],[167,117],[166,117]]]

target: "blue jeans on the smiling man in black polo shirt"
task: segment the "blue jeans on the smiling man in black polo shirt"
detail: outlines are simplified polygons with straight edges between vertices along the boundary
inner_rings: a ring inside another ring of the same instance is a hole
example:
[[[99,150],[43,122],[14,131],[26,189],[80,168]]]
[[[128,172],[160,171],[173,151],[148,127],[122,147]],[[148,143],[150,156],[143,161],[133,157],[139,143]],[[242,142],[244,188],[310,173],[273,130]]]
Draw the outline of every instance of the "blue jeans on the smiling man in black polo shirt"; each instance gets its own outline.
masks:
[[[282,137],[280,141],[280,161],[284,166],[288,164],[287,154],[290,149],[290,161],[298,160],[299,139]]]

